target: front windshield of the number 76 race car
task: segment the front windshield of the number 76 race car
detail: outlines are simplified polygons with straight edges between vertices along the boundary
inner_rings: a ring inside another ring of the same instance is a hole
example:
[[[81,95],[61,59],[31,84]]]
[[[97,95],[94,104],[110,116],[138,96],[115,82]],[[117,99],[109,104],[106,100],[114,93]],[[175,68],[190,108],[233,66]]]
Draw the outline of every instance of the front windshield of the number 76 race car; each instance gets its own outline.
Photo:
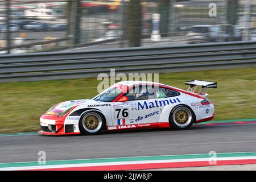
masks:
[[[122,93],[122,89],[119,86],[110,87],[96,97],[93,98],[94,101],[101,101],[101,102],[112,102],[119,94]]]

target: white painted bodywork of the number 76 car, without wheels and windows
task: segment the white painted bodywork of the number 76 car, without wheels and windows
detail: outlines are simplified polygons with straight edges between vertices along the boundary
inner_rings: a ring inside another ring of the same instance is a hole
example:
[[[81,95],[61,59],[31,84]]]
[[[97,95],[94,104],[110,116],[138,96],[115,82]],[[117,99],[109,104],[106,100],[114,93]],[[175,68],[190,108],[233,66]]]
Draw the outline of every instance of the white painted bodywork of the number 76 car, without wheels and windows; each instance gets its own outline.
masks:
[[[150,82],[144,83],[148,84]],[[136,84],[143,84],[143,82],[126,81],[119,82],[117,84],[133,86]],[[160,87],[167,86],[162,84],[158,85]],[[177,92],[179,92],[180,95],[167,98],[154,98],[126,102],[101,102],[95,100],[62,102],[62,106],[75,106],[75,109],[73,109],[65,118],[64,125],[74,125],[74,132],[80,132],[80,117],[83,113],[89,110],[98,111],[104,115],[107,130],[125,129],[126,127],[135,127],[135,125],[147,125],[152,123],[169,123],[169,116],[172,109],[181,104],[191,107],[193,113],[195,113],[196,121],[209,118],[214,114],[213,104],[201,105],[200,102],[205,100],[205,97],[196,97],[195,93],[187,92],[171,86],[168,87],[178,90]],[[47,126],[46,119],[41,122],[41,125],[42,123],[44,123],[44,126]],[[49,124],[50,123],[53,124],[52,121],[49,121]]]

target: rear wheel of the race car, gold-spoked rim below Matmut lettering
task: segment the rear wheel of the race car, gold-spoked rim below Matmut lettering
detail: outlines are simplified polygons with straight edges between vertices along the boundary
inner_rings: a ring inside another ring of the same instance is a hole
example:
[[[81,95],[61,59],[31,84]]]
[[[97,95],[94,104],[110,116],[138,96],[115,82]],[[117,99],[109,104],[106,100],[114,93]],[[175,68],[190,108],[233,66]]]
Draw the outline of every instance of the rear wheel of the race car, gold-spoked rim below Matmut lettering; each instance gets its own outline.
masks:
[[[176,130],[185,130],[195,122],[195,114],[186,105],[178,105],[172,109],[169,115],[170,127]]]

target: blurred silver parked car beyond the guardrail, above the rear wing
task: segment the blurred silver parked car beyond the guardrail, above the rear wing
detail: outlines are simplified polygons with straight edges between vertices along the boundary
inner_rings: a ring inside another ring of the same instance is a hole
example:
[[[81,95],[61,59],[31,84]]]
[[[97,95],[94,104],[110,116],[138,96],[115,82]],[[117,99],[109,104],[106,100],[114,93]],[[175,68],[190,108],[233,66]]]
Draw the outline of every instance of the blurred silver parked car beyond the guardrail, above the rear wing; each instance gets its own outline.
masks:
[[[193,43],[221,42],[221,27],[216,25],[196,25],[189,28],[187,41]]]

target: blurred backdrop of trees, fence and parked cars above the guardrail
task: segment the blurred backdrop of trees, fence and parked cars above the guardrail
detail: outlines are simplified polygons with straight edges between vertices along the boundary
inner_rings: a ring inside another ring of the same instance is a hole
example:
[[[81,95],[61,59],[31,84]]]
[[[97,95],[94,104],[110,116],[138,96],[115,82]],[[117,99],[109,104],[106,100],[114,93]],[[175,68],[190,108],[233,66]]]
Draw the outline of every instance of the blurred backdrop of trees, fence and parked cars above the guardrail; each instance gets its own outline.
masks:
[[[256,40],[256,0],[0,1],[0,53]]]

